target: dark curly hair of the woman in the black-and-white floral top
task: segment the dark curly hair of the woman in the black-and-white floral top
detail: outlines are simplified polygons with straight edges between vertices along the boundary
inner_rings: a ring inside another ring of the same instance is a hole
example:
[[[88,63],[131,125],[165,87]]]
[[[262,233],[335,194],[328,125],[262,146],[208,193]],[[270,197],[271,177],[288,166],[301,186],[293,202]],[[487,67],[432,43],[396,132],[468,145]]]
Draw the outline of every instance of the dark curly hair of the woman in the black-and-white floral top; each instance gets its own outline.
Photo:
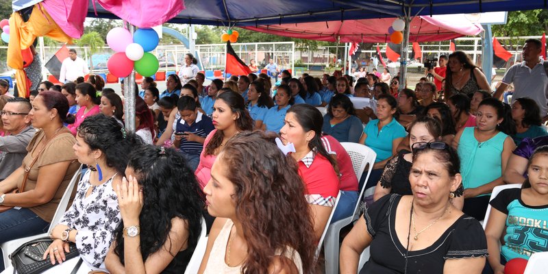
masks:
[[[116,119],[102,113],[86,117],[78,126],[77,134],[90,149],[99,149],[105,155],[107,166],[121,175],[125,173],[129,152],[142,145],[140,138],[125,132]]]

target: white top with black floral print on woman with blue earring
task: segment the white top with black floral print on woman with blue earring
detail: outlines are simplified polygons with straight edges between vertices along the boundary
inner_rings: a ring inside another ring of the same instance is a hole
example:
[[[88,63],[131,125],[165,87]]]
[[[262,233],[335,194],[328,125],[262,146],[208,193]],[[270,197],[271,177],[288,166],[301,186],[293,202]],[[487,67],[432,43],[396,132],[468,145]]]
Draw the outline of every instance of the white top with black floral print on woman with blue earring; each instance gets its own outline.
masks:
[[[92,187],[88,170],[78,183],[73,205],[64,213],[60,222],[78,231],[76,247],[80,258],[96,270],[106,271],[105,257],[113,240],[114,229],[122,221],[118,198],[112,188],[115,176],[95,186],[86,197],[86,192]]]

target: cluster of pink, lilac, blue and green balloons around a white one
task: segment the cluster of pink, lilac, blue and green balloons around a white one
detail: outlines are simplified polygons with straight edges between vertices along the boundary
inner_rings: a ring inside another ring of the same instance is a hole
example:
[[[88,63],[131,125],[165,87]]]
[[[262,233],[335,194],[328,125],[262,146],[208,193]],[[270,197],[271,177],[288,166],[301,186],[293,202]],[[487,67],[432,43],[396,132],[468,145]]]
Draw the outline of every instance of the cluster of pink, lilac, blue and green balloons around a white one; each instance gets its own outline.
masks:
[[[127,77],[132,70],[149,77],[158,71],[158,58],[149,51],[158,46],[154,29],[137,29],[132,34],[123,27],[114,27],[107,34],[108,46],[116,51],[107,62],[108,71],[116,77]]]

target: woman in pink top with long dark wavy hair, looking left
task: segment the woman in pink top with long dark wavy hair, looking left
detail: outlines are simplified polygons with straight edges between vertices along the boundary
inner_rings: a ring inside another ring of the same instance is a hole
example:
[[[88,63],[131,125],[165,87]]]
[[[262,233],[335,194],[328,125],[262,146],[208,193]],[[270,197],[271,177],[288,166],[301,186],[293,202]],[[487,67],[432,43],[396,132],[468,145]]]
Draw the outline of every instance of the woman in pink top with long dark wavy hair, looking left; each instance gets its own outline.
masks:
[[[206,186],[211,178],[211,167],[228,140],[240,132],[253,129],[253,119],[245,109],[244,98],[238,92],[223,92],[215,100],[212,114],[213,129],[203,142],[200,163],[195,175],[200,187]]]

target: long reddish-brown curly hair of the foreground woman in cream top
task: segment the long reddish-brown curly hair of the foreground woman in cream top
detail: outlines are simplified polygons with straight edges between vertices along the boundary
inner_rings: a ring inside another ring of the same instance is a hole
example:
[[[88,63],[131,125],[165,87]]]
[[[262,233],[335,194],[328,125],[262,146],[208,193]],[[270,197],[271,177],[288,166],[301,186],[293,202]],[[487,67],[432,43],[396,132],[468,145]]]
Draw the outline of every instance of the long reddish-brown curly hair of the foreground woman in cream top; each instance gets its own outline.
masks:
[[[301,256],[303,272],[313,273],[314,225],[297,163],[265,138],[260,131],[238,134],[219,155],[227,166],[238,166],[226,173],[247,242],[242,273],[269,273],[276,252],[288,247]],[[282,264],[291,263],[282,257]]]

